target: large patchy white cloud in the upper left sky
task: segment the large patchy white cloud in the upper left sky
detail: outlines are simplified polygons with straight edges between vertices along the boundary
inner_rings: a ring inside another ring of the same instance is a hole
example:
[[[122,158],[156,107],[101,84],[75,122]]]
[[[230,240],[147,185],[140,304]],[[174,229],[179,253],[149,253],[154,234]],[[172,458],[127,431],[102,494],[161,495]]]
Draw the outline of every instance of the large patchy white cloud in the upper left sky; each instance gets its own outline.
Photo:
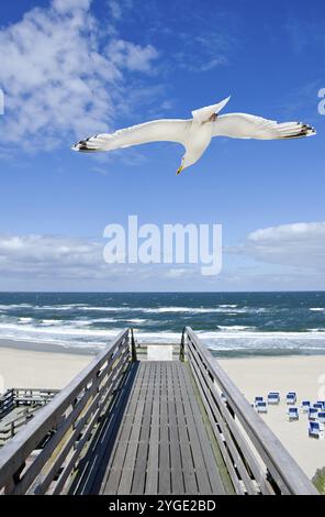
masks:
[[[53,0],[0,31],[2,142],[53,148],[107,131],[119,103],[127,105],[130,75],[152,70],[157,51],[117,40],[90,6]]]

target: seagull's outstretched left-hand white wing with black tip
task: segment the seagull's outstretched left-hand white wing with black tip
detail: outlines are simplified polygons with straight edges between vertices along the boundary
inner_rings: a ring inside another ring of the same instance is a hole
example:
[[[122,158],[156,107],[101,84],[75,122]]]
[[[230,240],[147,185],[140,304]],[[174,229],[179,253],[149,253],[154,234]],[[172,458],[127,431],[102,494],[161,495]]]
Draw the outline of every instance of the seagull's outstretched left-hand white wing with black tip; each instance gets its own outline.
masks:
[[[131,147],[149,142],[178,142],[184,145],[187,130],[191,121],[187,120],[154,120],[144,124],[103,133],[81,140],[74,145],[74,151],[113,151]]]

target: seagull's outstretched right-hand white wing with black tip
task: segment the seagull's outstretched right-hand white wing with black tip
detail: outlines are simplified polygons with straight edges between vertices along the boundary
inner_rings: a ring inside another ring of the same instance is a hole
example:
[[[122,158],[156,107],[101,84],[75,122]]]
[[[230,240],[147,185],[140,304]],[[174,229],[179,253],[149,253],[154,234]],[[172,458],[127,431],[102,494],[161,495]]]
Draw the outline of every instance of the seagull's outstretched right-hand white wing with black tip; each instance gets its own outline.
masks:
[[[231,139],[299,139],[311,136],[316,131],[302,122],[278,123],[247,113],[228,113],[217,117],[213,122],[213,136],[229,136]]]

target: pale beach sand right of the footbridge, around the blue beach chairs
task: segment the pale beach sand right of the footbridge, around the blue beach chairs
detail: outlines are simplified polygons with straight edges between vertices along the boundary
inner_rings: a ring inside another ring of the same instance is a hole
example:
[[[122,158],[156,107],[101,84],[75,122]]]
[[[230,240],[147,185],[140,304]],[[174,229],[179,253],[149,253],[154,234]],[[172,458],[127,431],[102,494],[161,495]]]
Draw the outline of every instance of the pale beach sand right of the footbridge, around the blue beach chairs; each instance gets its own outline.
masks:
[[[299,421],[288,421],[284,397],[292,391],[298,394],[298,405],[302,399],[324,400],[325,356],[226,359],[218,363],[249,402],[259,395],[266,398],[269,391],[280,392],[280,405],[269,406],[261,417],[312,479],[325,466],[325,440],[309,438],[305,414],[300,414]]]

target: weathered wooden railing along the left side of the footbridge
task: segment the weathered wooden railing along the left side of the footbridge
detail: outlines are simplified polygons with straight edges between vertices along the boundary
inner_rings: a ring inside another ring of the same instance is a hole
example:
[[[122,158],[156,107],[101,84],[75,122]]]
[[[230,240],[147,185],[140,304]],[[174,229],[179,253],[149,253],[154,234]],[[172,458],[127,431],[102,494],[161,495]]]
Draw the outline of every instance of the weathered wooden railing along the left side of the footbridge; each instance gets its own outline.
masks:
[[[63,493],[131,361],[125,330],[0,450],[0,493]]]

